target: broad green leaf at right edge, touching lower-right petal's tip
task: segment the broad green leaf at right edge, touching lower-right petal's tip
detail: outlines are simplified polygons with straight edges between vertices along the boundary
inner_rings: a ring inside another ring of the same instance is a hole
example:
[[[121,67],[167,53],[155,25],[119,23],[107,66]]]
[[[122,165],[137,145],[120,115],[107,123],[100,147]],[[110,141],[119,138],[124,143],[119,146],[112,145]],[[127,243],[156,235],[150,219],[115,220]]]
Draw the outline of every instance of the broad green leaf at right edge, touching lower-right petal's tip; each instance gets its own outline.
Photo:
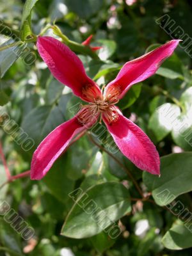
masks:
[[[161,157],[161,177],[143,173],[143,182],[152,192],[156,204],[170,204],[177,196],[192,190],[191,165],[192,152],[170,154]]]

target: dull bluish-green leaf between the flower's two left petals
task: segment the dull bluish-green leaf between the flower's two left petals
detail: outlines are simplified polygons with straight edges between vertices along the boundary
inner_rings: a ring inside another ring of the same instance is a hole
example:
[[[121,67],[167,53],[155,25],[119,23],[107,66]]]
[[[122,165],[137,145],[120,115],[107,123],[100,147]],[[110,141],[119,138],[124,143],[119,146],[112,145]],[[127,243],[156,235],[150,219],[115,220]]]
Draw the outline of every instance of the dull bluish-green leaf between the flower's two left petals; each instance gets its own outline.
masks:
[[[57,106],[40,106],[24,117],[21,126],[28,136],[38,144],[49,132],[64,121],[63,113]]]

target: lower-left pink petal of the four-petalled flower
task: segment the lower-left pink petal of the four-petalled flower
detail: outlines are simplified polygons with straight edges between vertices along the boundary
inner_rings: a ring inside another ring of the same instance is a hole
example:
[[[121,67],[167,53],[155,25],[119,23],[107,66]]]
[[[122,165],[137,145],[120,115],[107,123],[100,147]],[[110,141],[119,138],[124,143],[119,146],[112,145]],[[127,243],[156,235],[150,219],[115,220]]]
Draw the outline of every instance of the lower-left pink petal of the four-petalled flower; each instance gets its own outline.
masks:
[[[81,118],[79,118],[80,113]],[[54,131],[49,133],[33,154],[33,159],[31,161],[31,179],[42,179],[42,177],[49,171],[54,161],[58,159],[63,150],[68,146],[68,143],[70,143],[72,138],[79,132],[88,129],[95,124],[97,117],[98,116],[94,116],[92,118],[91,116],[90,118],[90,113],[89,115],[86,115],[86,109],[83,109],[79,111],[74,118],[59,125]]]

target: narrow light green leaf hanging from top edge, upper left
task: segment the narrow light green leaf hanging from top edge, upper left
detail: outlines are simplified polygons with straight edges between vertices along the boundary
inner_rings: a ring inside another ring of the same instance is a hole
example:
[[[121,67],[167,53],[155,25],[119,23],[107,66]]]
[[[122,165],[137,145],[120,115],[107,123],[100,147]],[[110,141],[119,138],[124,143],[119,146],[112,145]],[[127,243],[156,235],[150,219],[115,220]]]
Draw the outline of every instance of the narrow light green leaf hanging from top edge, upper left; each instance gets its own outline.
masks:
[[[30,35],[32,35],[31,30],[31,11],[38,0],[26,0],[22,12],[22,20],[20,25],[20,36],[21,40],[24,41]]]

